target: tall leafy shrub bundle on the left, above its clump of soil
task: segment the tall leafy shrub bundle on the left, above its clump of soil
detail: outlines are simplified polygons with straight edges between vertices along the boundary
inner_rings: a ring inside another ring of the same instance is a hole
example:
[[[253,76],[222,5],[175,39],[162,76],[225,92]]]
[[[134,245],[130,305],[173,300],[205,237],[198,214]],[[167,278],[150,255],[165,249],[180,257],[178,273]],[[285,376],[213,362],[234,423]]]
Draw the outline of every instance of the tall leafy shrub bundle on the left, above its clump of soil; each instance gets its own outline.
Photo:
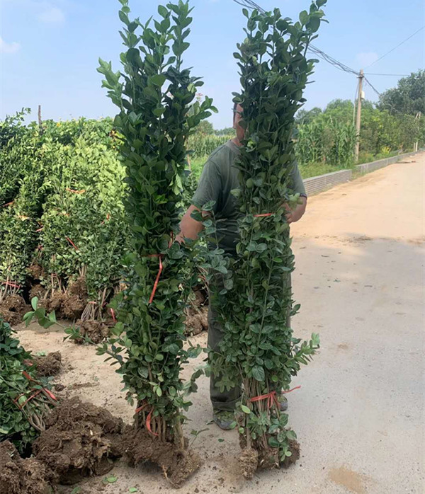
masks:
[[[203,83],[183,68],[192,21],[188,3],[159,6],[153,28],[149,21],[131,21],[128,1],[120,3],[123,72],[113,72],[102,60],[98,69],[120,108],[115,126],[123,136],[125,211],[132,233],[132,254],[126,258],[131,274],[118,299],[111,353],[120,364],[128,400],[137,401],[136,430],[184,448],[181,408],[189,403],[179,372],[194,353],[183,348],[191,251],[173,240],[187,167],[185,144],[215,108],[210,98],[193,103]],[[106,351],[105,345],[101,352]]]

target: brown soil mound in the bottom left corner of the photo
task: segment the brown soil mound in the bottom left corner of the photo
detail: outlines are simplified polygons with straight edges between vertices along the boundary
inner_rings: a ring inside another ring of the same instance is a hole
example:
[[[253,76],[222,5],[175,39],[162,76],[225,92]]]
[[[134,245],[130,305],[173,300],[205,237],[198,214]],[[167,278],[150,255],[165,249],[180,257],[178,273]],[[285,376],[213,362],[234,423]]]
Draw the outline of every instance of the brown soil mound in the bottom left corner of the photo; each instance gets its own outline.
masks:
[[[41,461],[22,459],[11,442],[0,443],[0,494],[51,494],[52,480]]]

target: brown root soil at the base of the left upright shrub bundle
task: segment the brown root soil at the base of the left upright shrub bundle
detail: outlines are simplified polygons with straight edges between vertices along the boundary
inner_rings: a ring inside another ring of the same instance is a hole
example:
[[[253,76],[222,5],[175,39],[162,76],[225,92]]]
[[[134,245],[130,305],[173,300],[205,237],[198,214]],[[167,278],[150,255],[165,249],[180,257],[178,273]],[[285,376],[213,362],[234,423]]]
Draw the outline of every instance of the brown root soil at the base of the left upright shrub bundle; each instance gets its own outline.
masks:
[[[161,442],[146,429],[125,427],[123,456],[133,466],[147,461],[157,464],[174,487],[180,487],[202,465],[200,456],[171,442]]]

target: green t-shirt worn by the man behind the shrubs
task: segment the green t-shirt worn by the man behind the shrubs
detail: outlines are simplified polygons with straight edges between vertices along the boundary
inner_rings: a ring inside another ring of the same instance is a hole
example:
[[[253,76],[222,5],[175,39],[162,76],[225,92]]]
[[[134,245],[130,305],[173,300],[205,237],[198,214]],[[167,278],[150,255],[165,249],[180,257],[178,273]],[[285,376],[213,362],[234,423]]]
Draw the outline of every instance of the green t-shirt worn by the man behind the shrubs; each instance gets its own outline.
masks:
[[[239,170],[234,161],[239,154],[239,147],[232,141],[217,147],[205,163],[200,176],[198,188],[192,199],[192,204],[202,208],[209,201],[214,201],[212,208],[215,214],[217,239],[219,247],[226,253],[236,253],[239,241],[237,219],[240,215],[237,209],[237,199],[231,193],[239,188]],[[297,163],[290,171],[290,187],[295,193],[305,195],[304,183]]]

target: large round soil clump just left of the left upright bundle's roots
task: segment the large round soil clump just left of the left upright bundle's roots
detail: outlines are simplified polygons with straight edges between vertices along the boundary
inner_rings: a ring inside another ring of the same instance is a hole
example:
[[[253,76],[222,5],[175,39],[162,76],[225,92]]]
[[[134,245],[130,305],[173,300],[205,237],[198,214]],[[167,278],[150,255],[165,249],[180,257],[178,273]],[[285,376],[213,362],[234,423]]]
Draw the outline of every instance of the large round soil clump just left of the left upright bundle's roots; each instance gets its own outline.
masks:
[[[63,484],[86,476],[104,475],[111,459],[121,456],[123,420],[78,397],[57,406],[45,420],[46,430],[33,443],[35,458]]]

